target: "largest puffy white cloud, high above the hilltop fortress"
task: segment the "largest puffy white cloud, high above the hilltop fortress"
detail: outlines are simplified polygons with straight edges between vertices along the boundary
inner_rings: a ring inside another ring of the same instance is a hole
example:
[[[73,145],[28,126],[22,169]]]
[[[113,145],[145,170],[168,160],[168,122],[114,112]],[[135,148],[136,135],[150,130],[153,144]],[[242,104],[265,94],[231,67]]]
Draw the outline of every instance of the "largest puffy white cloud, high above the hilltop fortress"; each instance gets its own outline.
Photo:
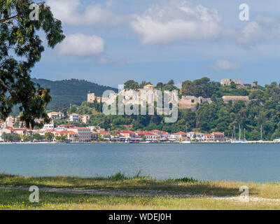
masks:
[[[134,15],[132,29],[143,43],[167,44],[178,40],[216,39],[221,34],[217,10],[189,1],[153,5],[143,15]]]

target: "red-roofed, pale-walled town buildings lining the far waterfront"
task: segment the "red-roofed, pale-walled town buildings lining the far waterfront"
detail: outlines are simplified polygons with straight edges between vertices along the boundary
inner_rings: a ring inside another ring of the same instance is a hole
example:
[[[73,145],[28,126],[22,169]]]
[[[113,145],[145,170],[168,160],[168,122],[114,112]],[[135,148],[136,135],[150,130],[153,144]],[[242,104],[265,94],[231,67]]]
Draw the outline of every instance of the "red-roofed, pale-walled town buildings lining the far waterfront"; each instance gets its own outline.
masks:
[[[25,127],[17,128],[15,124],[20,119],[20,116],[13,118],[9,116],[5,122],[0,122],[0,141],[30,141],[31,136],[34,136],[33,141],[52,141],[52,142],[68,142],[68,143],[90,143],[97,141],[104,142],[125,142],[125,143],[149,143],[149,142],[225,142],[229,139],[221,132],[213,132],[211,134],[200,132],[177,132],[168,133],[160,130],[151,131],[127,131],[119,130],[106,132],[99,126],[78,127],[77,125],[58,125],[55,127],[54,120],[60,120],[64,117],[63,113],[50,112],[48,113],[51,123],[45,124],[39,130],[31,130]],[[87,116],[79,116],[74,113],[69,116],[69,121],[82,121],[87,123]],[[37,120],[39,122],[40,120]],[[16,135],[16,139],[8,139],[5,136]]]

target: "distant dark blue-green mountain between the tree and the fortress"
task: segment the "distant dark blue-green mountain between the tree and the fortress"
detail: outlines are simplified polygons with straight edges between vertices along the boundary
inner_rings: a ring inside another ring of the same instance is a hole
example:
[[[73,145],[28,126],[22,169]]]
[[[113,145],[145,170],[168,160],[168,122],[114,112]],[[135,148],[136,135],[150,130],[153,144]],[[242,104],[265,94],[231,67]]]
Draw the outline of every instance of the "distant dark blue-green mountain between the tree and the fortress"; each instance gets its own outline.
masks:
[[[70,79],[52,81],[42,78],[32,78],[32,81],[38,83],[41,87],[50,88],[52,102],[48,104],[48,109],[52,109],[55,105],[59,108],[64,105],[69,106],[70,104],[80,105],[87,100],[87,93],[89,91],[94,92],[96,96],[101,96],[106,90],[118,92],[116,88],[98,85],[87,80]]]

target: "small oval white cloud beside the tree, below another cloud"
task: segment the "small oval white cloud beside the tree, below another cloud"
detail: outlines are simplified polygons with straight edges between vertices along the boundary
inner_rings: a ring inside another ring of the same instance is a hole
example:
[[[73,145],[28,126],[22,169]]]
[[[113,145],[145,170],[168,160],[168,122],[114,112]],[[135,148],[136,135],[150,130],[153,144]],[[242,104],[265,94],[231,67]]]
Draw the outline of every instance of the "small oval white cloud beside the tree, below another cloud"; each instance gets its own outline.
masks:
[[[71,34],[59,45],[61,55],[92,56],[104,52],[105,41],[99,36]]]

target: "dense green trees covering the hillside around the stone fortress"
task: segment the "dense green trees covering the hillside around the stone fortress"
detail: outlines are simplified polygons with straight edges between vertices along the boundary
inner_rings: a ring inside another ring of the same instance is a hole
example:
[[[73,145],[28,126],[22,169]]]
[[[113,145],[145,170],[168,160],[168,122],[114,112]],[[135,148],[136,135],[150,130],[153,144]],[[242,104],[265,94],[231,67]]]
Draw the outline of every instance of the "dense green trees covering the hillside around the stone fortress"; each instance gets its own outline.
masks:
[[[142,82],[142,85],[146,84]],[[256,82],[255,82],[256,83]],[[158,83],[158,88],[164,89],[169,84]],[[127,88],[139,87],[134,80],[125,83]],[[171,88],[174,89],[174,88]],[[186,91],[185,91],[186,90]],[[71,113],[89,114],[90,125],[99,125],[106,130],[163,130],[165,132],[179,132],[194,130],[197,132],[224,132],[225,136],[232,137],[234,128],[238,132],[241,126],[242,137],[247,140],[260,139],[260,127],[262,125],[262,137],[268,140],[280,138],[280,88],[277,83],[262,87],[245,85],[237,87],[235,83],[229,86],[221,86],[220,83],[210,82],[209,78],[183,82],[179,94],[202,95],[212,99],[212,103],[204,102],[197,105],[197,111],[179,110],[176,123],[164,123],[164,116],[105,116],[102,111],[102,102],[92,104],[83,102],[81,106],[72,106]],[[250,102],[239,101],[223,102],[223,95],[248,96]],[[156,110],[155,110],[156,111]]]

